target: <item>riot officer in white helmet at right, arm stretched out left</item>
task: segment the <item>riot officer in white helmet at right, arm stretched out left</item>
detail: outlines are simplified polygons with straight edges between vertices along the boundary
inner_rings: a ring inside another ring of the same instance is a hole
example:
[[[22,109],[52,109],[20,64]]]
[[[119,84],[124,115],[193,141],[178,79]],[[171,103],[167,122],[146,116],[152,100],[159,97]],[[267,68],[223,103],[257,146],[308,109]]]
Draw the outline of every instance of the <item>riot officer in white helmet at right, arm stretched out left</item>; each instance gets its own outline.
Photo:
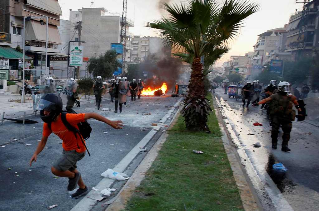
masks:
[[[278,83],[278,92],[272,94],[270,97],[263,99],[260,102],[255,103],[253,106],[257,104],[263,104],[266,102],[271,102],[270,105],[270,115],[271,115],[271,143],[272,148],[277,149],[278,142],[278,133],[279,127],[281,126],[284,134],[282,136],[282,144],[281,150],[285,152],[291,151],[288,148],[288,141],[290,139],[290,132],[292,129],[292,122],[295,120],[296,112],[293,109],[293,105],[295,105],[296,109],[298,109],[299,115],[301,112],[301,108],[299,103],[297,102],[296,97],[290,93],[290,84],[286,81],[280,81]]]

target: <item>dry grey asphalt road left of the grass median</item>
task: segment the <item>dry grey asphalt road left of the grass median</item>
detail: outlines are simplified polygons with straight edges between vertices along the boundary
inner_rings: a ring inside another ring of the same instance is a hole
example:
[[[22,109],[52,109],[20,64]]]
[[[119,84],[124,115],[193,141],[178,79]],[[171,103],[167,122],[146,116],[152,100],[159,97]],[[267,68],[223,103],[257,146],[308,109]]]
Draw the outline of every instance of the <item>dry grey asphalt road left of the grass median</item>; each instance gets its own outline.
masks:
[[[87,140],[91,156],[86,154],[78,162],[78,170],[87,187],[92,189],[97,185],[103,178],[100,176],[102,172],[114,168],[148,132],[153,130],[152,123],[169,124],[169,118],[162,118],[171,109],[176,112],[177,108],[174,108],[174,105],[179,99],[167,95],[142,97],[136,102],[130,102],[128,98],[128,106],[123,107],[122,113],[113,112],[114,104],[109,102],[107,95],[102,99],[101,109],[109,108],[108,111],[98,111],[92,96],[90,100],[83,99],[81,107],[75,108],[78,113],[97,112],[111,120],[122,120],[125,124],[123,130],[115,130],[102,122],[89,120],[93,128],[91,137]],[[54,178],[50,169],[53,162],[62,154],[62,141],[55,134],[51,134],[46,145],[48,149],[44,149],[38,155],[37,162],[30,167],[29,160],[38,140],[41,139],[43,123],[34,115],[27,118],[39,123],[23,126],[6,121],[0,125],[0,210],[46,210],[55,204],[58,204],[58,207],[54,208],[56,211],[70,210],[81,198],[71,199],[67,191],[68,179]],[[161,131],[158,132],[159,135]],[[142,158],[137,156],[136,159]],[[11,170],[8,170],[9,168]],[[133,170],[130,166],[126,172],[130,174]],[[117,185],[117,188],[121,185]],[[99,207],[92,209],[103,209],[100,204],[96,206]]]

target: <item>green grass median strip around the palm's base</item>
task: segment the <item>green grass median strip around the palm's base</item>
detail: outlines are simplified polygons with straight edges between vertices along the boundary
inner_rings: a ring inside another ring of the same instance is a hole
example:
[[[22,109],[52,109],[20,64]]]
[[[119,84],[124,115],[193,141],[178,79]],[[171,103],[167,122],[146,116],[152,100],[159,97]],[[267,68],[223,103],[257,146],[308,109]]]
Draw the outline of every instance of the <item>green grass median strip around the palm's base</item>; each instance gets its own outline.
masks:
[[[243,210],[214,111],[208,125],[189,132],[178,118],[126,210]]]

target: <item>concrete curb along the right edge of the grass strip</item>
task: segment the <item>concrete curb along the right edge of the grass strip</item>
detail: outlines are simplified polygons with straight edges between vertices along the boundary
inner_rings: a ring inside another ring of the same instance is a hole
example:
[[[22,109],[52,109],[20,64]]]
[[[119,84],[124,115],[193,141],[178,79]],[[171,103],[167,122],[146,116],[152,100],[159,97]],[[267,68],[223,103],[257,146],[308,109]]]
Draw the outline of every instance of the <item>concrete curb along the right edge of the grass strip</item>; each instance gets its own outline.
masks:
[[[219,127],[222,132],[222,141],[224,145],[225,152],[227,154],[228,161],[230,163],[231,169],[233,171],[233,176],[236,185],[239,190],[242,205],[246,211],[250,210],[263,210],[262,205],[258,199],[257,193],[251,183],[245,169],[242,166],[240,157],[236,151],[235,146],[232,144],[232,139],[227,130],[227,127],[222,120],[223,115],[221,114],[217,105],[215,97],[212,97],[215,114],[219,123]]]

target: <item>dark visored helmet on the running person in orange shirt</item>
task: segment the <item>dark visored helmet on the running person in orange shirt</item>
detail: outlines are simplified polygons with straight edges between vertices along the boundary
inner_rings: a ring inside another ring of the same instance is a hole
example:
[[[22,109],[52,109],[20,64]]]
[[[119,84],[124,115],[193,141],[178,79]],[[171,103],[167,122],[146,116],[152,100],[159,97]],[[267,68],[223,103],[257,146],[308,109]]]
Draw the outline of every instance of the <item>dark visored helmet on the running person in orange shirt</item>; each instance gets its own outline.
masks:
[[[60,115],[63,109],[63,102],[60,95],[48,93],[41,97],[36,110],[40,110],[40,117],[43,122],[51,123]]]

